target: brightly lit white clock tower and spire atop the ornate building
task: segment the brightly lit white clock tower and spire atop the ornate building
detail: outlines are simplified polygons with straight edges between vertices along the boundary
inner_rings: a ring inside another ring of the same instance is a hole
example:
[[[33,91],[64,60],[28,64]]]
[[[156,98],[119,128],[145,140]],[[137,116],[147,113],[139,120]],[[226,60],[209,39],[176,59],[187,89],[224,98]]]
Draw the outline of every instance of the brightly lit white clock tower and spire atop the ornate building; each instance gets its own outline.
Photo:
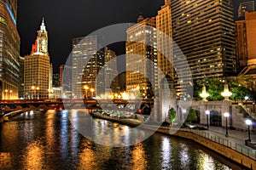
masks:
[[[48,54],[48,33],[44,25],[44,18],[38,31],[38,37],[35,43],[32,45],[32,54],[46,55]]]

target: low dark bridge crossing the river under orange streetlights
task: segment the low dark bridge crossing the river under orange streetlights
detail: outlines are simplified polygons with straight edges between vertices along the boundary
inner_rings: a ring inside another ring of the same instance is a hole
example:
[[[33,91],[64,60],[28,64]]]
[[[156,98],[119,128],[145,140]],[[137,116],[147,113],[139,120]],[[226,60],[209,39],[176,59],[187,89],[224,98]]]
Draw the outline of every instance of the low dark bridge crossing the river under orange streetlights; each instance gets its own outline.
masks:
[[[154,106],[153,99],[12,99],[0,100],[0,109],[2,113],[9,111],[18,111],[20,109],[79,109],[86,108],[90,110],[119,108],[123,111],[132,111],[144,114],[150,114]]]

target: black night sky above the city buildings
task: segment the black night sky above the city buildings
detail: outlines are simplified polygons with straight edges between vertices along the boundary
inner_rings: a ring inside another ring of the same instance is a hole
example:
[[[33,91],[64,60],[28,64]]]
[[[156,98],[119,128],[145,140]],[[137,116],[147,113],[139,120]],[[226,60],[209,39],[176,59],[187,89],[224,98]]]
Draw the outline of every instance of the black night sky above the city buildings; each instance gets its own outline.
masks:
[[[237,10],[238,0],[235,0]],[[83,37],[104,26],[137,22],[157,14],[164,0],[18,0],[20,56],[30,54],[44,17],[49,36],[49,56],[55,71],[72,50],[73,37]],[[125,48],[114,49],[117,54]]]

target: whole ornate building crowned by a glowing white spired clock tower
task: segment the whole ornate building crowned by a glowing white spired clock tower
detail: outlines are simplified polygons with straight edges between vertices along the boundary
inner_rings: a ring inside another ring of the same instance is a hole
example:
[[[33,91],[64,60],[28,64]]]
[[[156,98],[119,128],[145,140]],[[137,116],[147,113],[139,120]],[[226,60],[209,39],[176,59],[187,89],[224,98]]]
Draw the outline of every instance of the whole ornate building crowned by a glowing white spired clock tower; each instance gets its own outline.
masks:
[[[44,19],[38,31],[38,37],[32,45],[30,55],[24,57],[24,93],[26,99],[48,99],[50,85],[48,54],[48,33]]]

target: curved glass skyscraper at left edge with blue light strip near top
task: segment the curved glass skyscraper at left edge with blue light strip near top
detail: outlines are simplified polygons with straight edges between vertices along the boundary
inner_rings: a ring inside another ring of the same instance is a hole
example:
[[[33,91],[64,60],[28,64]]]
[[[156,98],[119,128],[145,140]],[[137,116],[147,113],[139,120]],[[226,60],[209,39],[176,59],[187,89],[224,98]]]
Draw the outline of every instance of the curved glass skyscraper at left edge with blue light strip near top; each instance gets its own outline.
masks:
[[[18,99],[20,36],[17,1],[0,0],[0,99]]]

